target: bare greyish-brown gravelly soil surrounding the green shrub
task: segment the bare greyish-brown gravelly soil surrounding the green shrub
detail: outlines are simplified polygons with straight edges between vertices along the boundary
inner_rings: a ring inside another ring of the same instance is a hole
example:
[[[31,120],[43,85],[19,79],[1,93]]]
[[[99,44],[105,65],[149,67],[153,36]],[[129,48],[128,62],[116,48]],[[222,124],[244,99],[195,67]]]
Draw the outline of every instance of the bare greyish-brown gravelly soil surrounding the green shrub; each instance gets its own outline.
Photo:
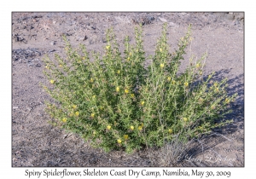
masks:
[[[12,15],[12,165],[13,166],[244,166],[244,24],[242,13],[13,13]],[[188,56],[207,52],[205,74],[228,78],[229,94],[238,93],[231,105],[234,124],[191,141],[183,157],[173,159],[173,146],[144,149],[131,155],[103,153],[78,135],[49,124],[44,101],[49,95],[44,55],[63,54],[65,34],[73,46],[84,43],[89,51],[101,51],[105,32],[113,26],[119,43],[126,35],[134,42],[137,24],[143,24],[144,48],[154,53],[164,22],[171,49],[192,24],[194,40]],[[175,162],[173,162],[175,161]]]

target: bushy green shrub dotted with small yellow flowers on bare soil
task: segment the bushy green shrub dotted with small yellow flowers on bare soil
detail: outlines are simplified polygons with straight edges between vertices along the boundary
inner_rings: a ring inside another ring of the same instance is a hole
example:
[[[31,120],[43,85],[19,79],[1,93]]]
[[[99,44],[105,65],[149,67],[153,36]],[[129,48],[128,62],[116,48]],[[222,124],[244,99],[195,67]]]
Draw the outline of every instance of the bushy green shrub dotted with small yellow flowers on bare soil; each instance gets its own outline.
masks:
[[[186,70],[177,75],[189,44],[189,31],[169,53],[166,24],[157,41],[152,62],[145,66],[142,27],[135,29],[136,44],[125,38],[125,51],[119,52],[113,30],[107,32],[104,55],[73,49],[67,42],[67,59],[55,55],[45,58],[46,90],[55,102],[47,112],[55,124],[90,140],[105,151],[124,148],[127,153],[143,146],[161,147],[173,136],[186,141],[230,121],[218,122],[229,113],[226,79],[203,78],[204,59],[192,57]]]

